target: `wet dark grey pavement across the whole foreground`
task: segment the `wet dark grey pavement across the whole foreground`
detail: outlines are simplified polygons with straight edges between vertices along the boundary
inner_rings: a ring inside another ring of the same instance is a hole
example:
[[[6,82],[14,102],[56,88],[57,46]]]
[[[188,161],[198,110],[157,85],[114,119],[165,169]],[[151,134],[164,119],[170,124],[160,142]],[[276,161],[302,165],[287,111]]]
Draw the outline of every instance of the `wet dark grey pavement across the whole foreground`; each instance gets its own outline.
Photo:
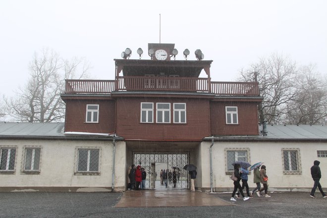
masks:
[[[190,193],[189,190],[126,191],[124,193],[78,192],[2,192],[2,218],[322,218],[326,217],[327,198],[317,199],[305,192],[270,193],[271,198],[254,197],[230,202],[231,193]],[[133,194],[132,194],[133,193]],[[134,194],[135,193],[135,194]],[[149,193],[149,194],[145,194]],[[200,196],[208,202],[191,206],[186,196]],[[199,194],[199,195],[198,195]],[[140,199],[140,196],[143,198]],[[126,207],[117,207],[124,200]],[[213,202],[221,206],[211,206]],[[144,205],[157,205],[155,207]],[[131,203],[132,202],[132,203]],[[138,205],[134,207],[133,204]],[[179,204],[179,205],[177,205]],[[169,206],[170,205],[170,206]],[[172,205],[172,206],[171,206]]]

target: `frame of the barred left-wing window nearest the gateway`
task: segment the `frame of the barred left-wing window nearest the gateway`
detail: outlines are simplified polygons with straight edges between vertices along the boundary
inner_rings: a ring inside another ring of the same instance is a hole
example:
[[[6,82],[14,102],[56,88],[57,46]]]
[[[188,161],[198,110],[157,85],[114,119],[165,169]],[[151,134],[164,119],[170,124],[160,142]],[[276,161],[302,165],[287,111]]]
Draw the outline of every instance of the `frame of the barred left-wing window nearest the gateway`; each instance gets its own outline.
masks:
[[[88,159],[87,159],[87,170],[81,171],[78,170],[78,161],[79,161],[79,151],[80,150],[87,150],[88,151]],[[99,157],[98,157],[98,170],[97,171],[90,171],[90,154],[91,150],[99,150]],[[101,172],[101,157],[102,157],[102,149],[101,147],[76,147],[75,148],[75,175],[100,175]]]

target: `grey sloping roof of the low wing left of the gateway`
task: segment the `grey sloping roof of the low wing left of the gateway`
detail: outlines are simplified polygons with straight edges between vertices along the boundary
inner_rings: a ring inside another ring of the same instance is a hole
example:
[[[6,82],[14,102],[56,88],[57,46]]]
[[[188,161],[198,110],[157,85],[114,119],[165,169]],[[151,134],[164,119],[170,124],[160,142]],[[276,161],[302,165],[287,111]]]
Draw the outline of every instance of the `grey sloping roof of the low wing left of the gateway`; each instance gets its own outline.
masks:
[[[40,122],[2,122],[0,123],[0,138],[37,138],[37,139],[121,139],[115,135],[104,133],[64,132],[64,123]]]

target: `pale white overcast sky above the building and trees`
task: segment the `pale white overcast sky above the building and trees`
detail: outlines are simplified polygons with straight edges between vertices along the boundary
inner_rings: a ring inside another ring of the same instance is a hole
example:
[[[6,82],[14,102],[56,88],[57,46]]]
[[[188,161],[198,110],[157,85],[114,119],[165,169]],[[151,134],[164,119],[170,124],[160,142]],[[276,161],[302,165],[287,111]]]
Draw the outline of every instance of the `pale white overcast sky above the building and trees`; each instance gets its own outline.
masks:
[[[274,52],[327,73],[326,0],[1,0],[0,95],[24,86],[35,52],[85,57],[94,79],[114,79],[114,58],[147,55],[148,43],[201,49],[213,60],[212,81],[235,81],[238,71]],[[202,75],[201,75],[202,76]]]

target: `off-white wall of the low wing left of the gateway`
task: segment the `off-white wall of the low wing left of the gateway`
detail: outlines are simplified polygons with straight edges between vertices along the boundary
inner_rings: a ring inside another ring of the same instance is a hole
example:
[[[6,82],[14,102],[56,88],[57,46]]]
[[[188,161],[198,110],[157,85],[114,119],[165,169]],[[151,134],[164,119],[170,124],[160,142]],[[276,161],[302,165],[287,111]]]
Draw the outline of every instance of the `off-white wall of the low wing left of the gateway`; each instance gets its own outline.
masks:
[[[111,191],[111,141],[1,140],[1,147],[16,147],[13,174],[0,173],[0,191]],[[40,146],[40,173],[23,172],[24,148]],[[76,173],[77,148],[99,148],[98,174]],[[125,189],[125,143],[116,143],[114,190]]]

